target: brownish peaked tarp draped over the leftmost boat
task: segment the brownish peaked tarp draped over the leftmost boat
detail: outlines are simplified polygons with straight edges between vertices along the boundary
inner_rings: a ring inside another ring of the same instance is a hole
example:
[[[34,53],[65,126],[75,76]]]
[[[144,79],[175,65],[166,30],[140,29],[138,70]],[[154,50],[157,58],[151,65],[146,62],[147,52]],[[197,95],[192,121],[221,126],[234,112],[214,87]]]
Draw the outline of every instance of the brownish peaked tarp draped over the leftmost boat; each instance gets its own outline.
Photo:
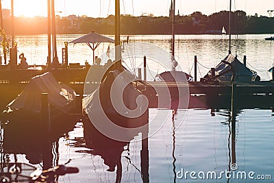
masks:
[[[59,84],[52,73],[47,72],[32,77],[22,93],[11,101],[7,107],[11,110],[22,108],[32,112],[40,112],[42,93],[48,93],[49,104],[62,112],[69,110],[69,104],[76,97],[76,93],[72,88],[65,84]]]

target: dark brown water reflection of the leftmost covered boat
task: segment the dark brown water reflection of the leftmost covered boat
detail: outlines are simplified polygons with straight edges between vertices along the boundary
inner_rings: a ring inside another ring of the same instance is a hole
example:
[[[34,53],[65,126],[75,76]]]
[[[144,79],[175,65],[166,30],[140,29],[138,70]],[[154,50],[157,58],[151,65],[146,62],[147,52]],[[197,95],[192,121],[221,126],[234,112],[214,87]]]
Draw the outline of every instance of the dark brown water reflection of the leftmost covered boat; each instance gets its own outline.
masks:
[[[51,123],[51,130],[45,130],[40,121],[1,121],[1,170],[8,162],[16,162],[25,155],[27,163],[42,169],[59,165],[59,138],[68,136],[75,121]],[[14,154],[14,156],[10,156]],[[29,173],[32,173],[29,170]]]

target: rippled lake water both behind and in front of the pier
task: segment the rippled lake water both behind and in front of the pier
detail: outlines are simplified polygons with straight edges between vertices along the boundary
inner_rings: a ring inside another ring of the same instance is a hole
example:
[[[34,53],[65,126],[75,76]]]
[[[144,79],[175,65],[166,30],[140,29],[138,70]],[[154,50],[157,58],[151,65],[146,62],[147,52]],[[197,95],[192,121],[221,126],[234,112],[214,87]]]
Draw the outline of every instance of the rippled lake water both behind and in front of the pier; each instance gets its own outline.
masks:
[[[59,51],[62,42],[79,36],[82,35],[58,36]],[[247,66],[257,71],[262,80],[269,80],[267,70],[274,58],[274,42],[264,40],[268,36],[240,35],[237,39],[232,36],[232,53],[237,52],[240,61],[246,55]],[[147,56],[148,66],[158,73],[160,64],[171,65],[169,38],[132,36],[133,43],[130,47],[125,45],[123,54],[129,61],[135,61],[132,67],[142,64],[142,56]],[[227,56],[227,39],[222,35],[176,36],[175,59],[183,71],[194,75],[192,64],[197,56],[199,75],[206,75],[208,68]],[[17,36],[16,41],[19,53],[25,53],[29,64],[45,64],[46,35]],[[101,56],[107,48],[108,44],[100,45],[96,55]],[[130,60],[129,55],[135,58]],[[92,62],[87,45],[69,45],[70,63],[84,64],[86,60]],[[149,124],[147,151],[142,149],[141,134],[132,135],[129,143],[113,142],[80,121],[70,124],[53,139],[52,162],[79,168],[79,173],[60,176],[58,182],[115,182],[119,178],[121,182],[142,182],[142,178],[149,182],[272,182],[274,113],[271,109],[247,106],[238,110],[235,119],[230,119],[229,110],[223,108],[178,110],[174,121],[171,110],[150,109],[149,121],[153,123]],[[41,167],[41,143],[36,138],[39,132],[30,128],[24,132],[17,130],[17,134],[1,135],[1,166],[14,161],[14,153],[18,162],[32,162]],[[14,141],[7,142],[8,139]],[[7,149],[9,153],[4,154]]]

